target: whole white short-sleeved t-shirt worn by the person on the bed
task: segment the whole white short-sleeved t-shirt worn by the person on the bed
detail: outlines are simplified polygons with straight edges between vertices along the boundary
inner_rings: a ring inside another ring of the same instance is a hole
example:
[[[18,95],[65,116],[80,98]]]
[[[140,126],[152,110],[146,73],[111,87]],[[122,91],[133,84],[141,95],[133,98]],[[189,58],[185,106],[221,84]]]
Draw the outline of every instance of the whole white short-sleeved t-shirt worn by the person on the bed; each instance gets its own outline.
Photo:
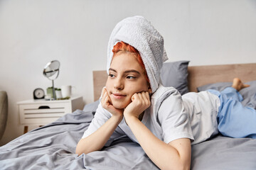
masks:
[[[216,121],[216,108],[218,108],[218,96],[210,94],[207,91],[205,92],[198,93],[198,95],[196,93],[189,93],[181,97],[181,94],[173,87],[164,87],[160,84],[159,88],[151,96],[151,106],[144,112],[142,123],[159,140],[166,143],[180,138],[189,138],[193,141],[194,137],[195,141],[193,143],[202,142],[202,140],[206,140],[206,138],[215,133],[213,126],[216,126],[216,123],[212,123],[211,119],[215,118]],[[211,104],[205,105],[203,101],[206,100],[210,101]],[[202,106],[201,103],[203,103]],[[207,112],[207,114],[203,115],[202,113],[204,112]],[[111,116],[112,114],[105,110],[105,108],[102,108],[100,103],[95,117],[92,119],[92,123],[90,123],[82,138],[95,132]],[[207,121],[201,123],[205,117]],[[208,123],[209,121],[210,123]],[[204,126],[211,130],[210,132],[206,132],[206,135]],[[125,123],[124,118],[116,130],[114,130],[106,146],[110,145],[114,139],[123,135],[127,135],[134,142],[138,142],[132,130]]]

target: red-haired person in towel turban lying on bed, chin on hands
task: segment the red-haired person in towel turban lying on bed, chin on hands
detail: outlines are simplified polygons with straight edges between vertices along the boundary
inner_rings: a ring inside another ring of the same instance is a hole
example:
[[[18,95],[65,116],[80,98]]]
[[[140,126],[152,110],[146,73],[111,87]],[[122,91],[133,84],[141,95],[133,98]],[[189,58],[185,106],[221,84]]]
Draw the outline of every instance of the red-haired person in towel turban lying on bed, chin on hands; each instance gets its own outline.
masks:
[[[109,77],[77,154],[98,151],[127,135],[160,169],[190,169],[191,142],[207,140],[218,130],[228,137],[256,137],[256,113],[240,103],[238,91],[246,87],[240,79],[224,91],[181,96],[159,84],[164,55],[161,35],[145,18],[117,24],[109,42]]]

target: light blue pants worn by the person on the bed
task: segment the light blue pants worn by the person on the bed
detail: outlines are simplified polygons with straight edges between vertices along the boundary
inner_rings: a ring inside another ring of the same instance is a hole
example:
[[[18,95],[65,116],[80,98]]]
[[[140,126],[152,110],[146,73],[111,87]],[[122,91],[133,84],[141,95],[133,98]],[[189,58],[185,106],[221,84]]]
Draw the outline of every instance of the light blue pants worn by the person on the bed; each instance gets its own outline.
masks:
[[[233,87],[223,91],[208,90],[220,98],[217,121],[219,132],[227,137],[256,139],[256,111],[242,106],[242,96]]]

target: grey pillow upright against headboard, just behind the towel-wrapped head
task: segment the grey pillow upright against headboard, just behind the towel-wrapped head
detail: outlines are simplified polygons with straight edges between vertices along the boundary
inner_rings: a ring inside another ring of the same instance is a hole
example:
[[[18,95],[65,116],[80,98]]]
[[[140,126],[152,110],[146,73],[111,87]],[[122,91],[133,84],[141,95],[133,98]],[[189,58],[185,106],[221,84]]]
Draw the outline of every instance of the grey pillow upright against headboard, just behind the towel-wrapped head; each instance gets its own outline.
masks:
[[[188,63],[189,61],[165,62],[161,69],[161,83],[173,86],[181,95],[188,93]]]

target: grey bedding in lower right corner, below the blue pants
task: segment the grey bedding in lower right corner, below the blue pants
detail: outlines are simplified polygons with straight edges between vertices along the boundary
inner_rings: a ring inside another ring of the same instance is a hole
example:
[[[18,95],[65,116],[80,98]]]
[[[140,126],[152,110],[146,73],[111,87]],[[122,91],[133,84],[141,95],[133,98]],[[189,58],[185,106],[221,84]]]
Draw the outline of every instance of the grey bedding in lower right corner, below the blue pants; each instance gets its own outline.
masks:
[[[193,145],[191,169],[256,169],[256,140],[217,135]]]

